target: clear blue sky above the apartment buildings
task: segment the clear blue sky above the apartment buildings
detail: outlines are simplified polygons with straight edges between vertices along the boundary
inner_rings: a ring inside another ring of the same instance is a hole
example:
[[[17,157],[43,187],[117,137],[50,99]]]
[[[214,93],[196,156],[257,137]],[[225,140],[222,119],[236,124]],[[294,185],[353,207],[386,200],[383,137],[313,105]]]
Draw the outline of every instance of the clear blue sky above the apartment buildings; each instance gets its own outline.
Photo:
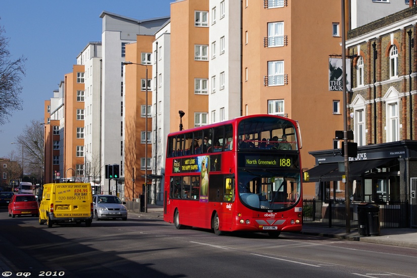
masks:
[[[14,59],[25,56],[26,76],[21,85],[23,110],[0,126],[0,157],[30,121],[43,121],[45,100],[53,97],[64,74],[72,71],[77,55],[90,41],[102,40],[103,11],[143,20],[170,15],[174,0],[0,0],[0,25],[9,38]]]

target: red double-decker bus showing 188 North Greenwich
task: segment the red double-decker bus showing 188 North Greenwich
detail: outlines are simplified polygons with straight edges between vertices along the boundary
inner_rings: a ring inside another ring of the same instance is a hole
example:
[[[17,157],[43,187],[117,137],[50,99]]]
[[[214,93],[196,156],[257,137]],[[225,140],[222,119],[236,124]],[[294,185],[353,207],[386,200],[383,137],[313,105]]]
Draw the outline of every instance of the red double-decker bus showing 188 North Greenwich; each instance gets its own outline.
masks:
[[[251,115],[168,135],[164,220],[278,237],[302,227],[298,122]]]

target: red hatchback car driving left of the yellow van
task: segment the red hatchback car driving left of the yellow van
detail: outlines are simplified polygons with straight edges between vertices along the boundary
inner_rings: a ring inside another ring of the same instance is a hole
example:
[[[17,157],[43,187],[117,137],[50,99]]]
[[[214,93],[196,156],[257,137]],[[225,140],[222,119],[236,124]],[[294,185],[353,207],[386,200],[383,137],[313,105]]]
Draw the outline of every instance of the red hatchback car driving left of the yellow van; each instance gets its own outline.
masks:
[[[33,194],[15,194],[9,203],[9,216],[16,215],[39,216],[39,204]]]

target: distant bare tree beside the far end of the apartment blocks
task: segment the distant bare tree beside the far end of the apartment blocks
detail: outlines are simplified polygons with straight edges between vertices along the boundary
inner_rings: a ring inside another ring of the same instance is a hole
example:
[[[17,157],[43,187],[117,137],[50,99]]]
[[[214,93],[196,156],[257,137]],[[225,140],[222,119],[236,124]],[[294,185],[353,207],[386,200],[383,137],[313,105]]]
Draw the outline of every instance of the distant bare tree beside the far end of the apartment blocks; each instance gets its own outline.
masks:
[[[31,120],[25,125],[16,141],[23,146],[23,163],[26,173],[42,176],[45,165],[43,120]],[[21,155],[21,154],[20,154]]]

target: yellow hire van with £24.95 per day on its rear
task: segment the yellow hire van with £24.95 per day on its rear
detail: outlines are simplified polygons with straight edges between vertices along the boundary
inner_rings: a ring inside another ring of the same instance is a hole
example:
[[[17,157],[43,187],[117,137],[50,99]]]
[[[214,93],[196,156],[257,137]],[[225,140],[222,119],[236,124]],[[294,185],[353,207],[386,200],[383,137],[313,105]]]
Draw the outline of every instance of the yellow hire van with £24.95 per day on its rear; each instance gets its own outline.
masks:
[[[67,222],[91,226],[92,193],[89,183],[48,183],[43,185],[39,225]]]

